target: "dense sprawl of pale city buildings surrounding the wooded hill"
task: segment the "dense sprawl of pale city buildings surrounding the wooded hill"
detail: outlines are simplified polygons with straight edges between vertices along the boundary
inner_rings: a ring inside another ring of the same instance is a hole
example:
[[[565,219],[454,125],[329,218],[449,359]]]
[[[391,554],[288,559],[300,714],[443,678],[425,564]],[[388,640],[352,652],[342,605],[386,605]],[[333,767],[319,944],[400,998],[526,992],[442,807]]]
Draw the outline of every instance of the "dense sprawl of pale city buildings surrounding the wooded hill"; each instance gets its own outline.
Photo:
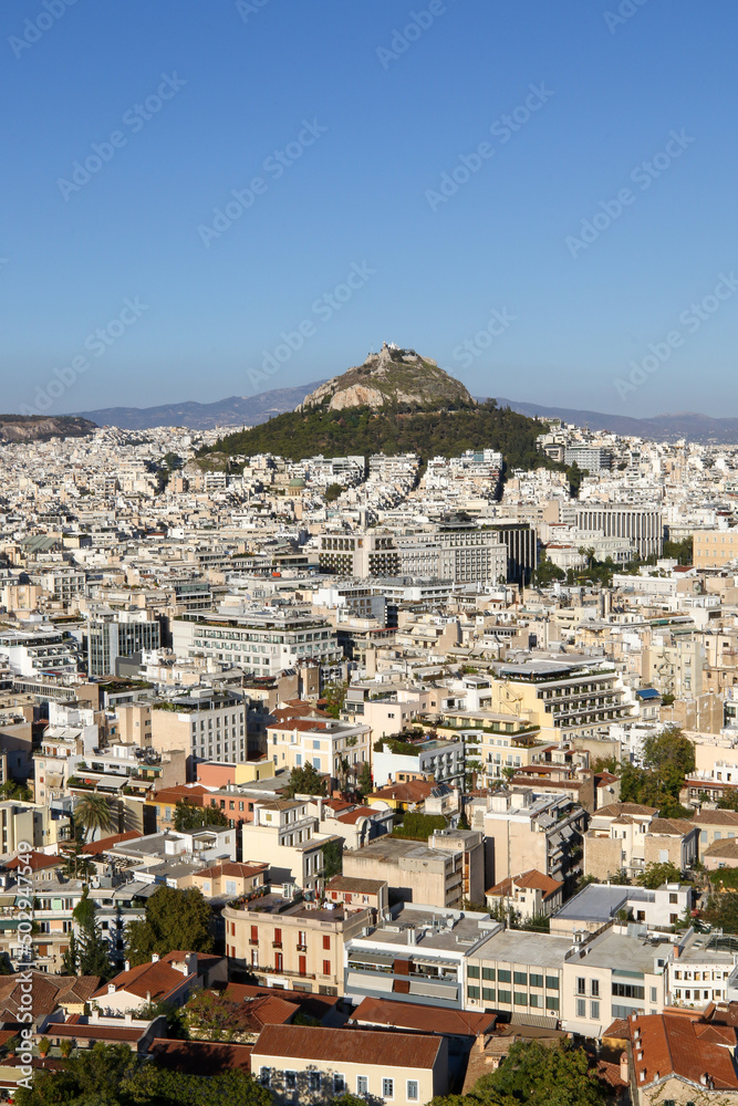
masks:
[[[532,425],[529,468],[1,447],[17,1102],[738,1093],[738,447]]]

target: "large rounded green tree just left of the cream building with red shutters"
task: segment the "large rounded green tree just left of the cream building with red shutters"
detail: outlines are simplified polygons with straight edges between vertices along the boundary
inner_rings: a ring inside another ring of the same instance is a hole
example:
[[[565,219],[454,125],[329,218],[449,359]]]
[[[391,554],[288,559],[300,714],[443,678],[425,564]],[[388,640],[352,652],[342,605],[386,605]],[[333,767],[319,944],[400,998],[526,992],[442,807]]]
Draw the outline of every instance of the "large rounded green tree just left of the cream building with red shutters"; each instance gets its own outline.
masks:
[[[146,904],[143,921],[127,929],[127,953],[132,964],[147,963],[152,953],[166,956],[173,949],[210,952],[211,910],[196,887],[177,890],[159,887]]]

